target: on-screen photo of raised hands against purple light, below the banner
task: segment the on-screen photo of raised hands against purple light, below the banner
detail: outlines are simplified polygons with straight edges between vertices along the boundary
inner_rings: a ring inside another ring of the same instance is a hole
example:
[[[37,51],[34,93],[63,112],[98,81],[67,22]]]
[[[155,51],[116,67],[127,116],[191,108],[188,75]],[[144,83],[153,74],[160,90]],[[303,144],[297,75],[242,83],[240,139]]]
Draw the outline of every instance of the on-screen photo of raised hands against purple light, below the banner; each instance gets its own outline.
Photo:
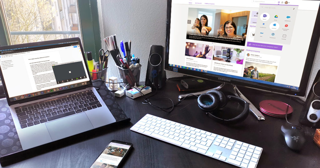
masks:
[[[212,52],[213,46],[198,43],[186,43],[186,56],[212,60]]]

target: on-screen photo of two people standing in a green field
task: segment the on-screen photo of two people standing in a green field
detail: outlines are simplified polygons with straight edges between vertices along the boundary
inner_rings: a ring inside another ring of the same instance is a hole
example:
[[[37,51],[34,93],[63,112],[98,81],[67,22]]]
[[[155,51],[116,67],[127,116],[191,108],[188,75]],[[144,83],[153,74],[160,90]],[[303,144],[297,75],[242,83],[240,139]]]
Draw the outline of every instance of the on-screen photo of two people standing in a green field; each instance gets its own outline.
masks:
[[[243,77],[252,79],[275,82],[277,66],[245,62]]]

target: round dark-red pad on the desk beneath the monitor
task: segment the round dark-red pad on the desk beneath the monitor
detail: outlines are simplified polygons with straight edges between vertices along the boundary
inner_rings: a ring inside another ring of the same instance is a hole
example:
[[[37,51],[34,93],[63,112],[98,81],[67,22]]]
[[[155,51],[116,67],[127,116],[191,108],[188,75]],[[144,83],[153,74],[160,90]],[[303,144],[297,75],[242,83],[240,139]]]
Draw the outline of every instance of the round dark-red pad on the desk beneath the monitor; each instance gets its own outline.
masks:
[[[293,112],[293,108],[288,104],[277,100],[263,100],[259,103],[260,111],[274,117],[285,117],[285,113],[288,110],[288,114]]]

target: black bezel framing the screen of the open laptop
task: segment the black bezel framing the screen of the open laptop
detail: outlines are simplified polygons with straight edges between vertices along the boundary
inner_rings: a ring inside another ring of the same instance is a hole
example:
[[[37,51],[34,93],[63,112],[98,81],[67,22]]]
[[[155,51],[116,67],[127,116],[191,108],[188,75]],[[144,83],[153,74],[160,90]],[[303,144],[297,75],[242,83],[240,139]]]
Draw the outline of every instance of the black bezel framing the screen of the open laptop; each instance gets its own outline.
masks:
[[[43,42],[35,42],[35,43],[0,46],[0,50],[8,50],[8,49],[16,49],[16,48],[39,46],[39,45],[48,45],[48,44],[59,44],[59,43],[73,42],[73,41],[77,41],[79,43],[79,46],[80,46],[80,49],[81,49],[81,53],[82,53],[82,57],[83,57],[83,61],[86,62],[86,58],[85,58],[85,55],[84,55],[84,50],[83,50],[83,47],[82,47],[82,44],[81,44],[81,40],[78,37],[67,38],[67,39],[59,39],[59,40],[50,40],[50,41],[43,41]],[[2,74],[2,70],[0,68],[0,77],[1,77],[1,80],[2,80],[2,85],[3,85],[3,89],[4,89],[4,93],[5,93],[5,97],[7,99],[8,105],[11,106],[13,104],[21,104],[21,103],[25,103],[25,102],[29,102],[29,101],[34,101],[34,100],[39,100],[39,99],[43,99],[43,98],[47,98],[47,97],[51,97],[51,96],[61,95],[61,94],[67,93],[67,92],[73,92],[73,91],[77,91],[77,90],[81,90],[81,89],[85,89],[87,87],[90,87],[90,85],[92,85],[92,80],[91,80],[91,76],[89,74],[89,68],[88,68],[87,63],[85,63],[85,67],[87,69],[87,76],[89,77],[89,81],[87,81],[86,85],[75,87],[75,88],[70,88],[70,89],[66,89],[66,90],[61,90],[61,91],[58,91],[58,92],[52,92],[50,94],[43,94],[43,95],[39,95],[39,96],[34,96],[34,97],[30,97],[28,99],[15,100],[15,101],[11,101],[10,98],[9,98],[8,91],[7,91],[6,84],[5,84],[5,79],[4,79],[4,76]],[[19,76],[19,75],[17,75],[17,76]],[[17,82],[23,82],[23,81],[19,81],[19,79],[17,79]]]

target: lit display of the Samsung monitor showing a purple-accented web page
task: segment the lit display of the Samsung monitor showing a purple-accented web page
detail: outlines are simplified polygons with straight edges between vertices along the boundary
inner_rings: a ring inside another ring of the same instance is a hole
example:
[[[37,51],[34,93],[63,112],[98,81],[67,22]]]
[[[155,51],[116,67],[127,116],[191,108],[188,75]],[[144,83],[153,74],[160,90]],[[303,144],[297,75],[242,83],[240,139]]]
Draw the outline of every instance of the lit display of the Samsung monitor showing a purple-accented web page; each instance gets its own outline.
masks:
[[[169,64],[298,90],[318,7],[319,1],[173,0]]]

